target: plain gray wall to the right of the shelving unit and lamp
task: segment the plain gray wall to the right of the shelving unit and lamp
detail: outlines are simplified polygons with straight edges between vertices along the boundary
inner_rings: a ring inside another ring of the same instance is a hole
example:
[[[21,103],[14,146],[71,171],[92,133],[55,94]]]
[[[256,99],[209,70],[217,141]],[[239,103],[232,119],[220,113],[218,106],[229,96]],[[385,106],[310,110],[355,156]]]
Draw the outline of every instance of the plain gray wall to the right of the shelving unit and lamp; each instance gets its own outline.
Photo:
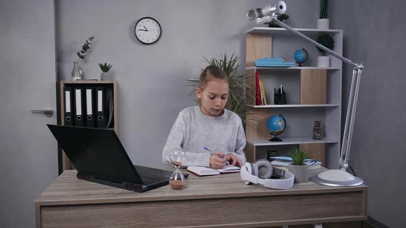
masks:
[[[401,0],[330,1],[331,27],[344,30],[344,55],[365,67],[350,166],[369,186],[368,215],[389,227],[406,224],[405,8]],[[351,71],[343,69],[345,109]]]

